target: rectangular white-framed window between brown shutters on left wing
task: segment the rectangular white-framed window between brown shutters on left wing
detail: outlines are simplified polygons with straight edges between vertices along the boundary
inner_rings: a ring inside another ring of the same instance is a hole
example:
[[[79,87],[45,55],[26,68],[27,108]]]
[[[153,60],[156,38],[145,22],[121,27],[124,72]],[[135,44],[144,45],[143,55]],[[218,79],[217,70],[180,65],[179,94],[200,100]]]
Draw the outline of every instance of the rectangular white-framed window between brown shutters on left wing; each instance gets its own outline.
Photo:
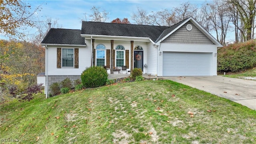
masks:
[[[74,48],[62,48],[62,67],[74,67]]]

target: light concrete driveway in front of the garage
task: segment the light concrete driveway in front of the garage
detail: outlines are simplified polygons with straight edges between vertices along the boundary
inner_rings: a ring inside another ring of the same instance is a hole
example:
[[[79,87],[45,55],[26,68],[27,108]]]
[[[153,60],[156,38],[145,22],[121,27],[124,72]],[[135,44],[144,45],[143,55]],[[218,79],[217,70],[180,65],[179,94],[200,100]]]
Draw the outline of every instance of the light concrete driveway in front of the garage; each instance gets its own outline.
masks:
[[[256,81],[223,76],[164,76],[172,80],[226,98],[256,110]]]

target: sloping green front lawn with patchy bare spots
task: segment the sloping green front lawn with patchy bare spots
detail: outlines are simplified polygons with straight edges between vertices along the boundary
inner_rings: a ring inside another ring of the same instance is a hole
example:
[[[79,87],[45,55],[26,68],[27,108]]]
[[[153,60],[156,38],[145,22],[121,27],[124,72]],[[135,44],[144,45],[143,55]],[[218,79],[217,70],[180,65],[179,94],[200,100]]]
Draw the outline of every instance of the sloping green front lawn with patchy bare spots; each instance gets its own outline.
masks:
[[[255,110],[169,80],[37,95],[0,112],[1,142],[256,143]]]

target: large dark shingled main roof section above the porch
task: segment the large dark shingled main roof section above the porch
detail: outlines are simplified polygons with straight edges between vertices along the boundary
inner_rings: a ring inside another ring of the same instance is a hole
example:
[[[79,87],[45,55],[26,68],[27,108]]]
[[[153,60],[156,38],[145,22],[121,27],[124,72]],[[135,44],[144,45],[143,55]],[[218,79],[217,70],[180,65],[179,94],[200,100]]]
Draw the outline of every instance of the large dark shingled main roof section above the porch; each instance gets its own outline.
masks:
[[[144,37],[155,42],[167,28],[170,27],[83,21],[81,34]]]

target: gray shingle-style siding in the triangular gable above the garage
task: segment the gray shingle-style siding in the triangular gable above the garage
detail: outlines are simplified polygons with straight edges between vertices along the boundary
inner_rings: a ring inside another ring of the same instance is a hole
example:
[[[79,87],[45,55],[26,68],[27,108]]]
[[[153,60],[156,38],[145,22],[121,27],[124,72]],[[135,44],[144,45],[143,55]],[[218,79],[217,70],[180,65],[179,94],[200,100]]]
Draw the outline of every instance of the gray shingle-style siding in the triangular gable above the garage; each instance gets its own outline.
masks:
[[[187,24],[192,25],[192,30],[186,29]],[[186,24],[181,26],[168,38],[162,41],[162,43],[173,43],[173,44],[212,44],[213,42],[202,33],[192,22],[188,21]]]

